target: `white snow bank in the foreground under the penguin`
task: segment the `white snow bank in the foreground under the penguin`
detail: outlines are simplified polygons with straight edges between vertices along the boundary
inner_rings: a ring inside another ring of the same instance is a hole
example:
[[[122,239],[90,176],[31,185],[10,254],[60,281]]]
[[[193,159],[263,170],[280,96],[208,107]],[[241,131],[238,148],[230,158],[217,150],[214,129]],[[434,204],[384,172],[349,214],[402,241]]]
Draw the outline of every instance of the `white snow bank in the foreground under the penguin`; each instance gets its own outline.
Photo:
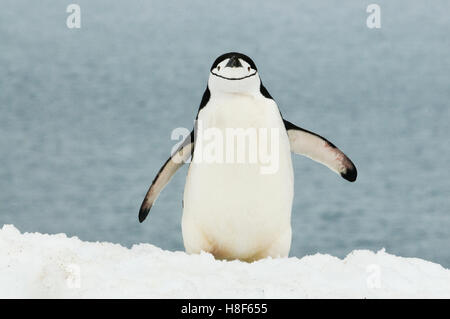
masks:
[[[0,298],[450,298],[450,270],[384,250],[220,261],[5,225]]]

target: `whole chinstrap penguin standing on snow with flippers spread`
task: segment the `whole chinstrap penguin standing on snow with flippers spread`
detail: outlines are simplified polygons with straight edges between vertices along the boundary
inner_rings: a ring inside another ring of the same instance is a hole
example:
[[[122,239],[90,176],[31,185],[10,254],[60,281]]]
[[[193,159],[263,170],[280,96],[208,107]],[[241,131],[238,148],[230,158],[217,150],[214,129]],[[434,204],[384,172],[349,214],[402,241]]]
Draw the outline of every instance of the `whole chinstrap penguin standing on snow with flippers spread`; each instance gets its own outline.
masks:
[[[214,134],[206,134],[207,130]],[[243,144],[230,144],[226,149],[223,140],[216,143],[220,145],[216,153],[223,150],[228,156],[241,151],[246,155],[243,161],[236,160],[235,154],[230,161],[223,156],[222,160],[217,160],[220,156],[204,159],[206,149],[212,149],[205,146],[206,135],[226,139],[230,131],[238,130],[278,134],[270,138],[248,134],[246,137],[254,138],[247,140],[256,141],[253,151]],[[267,149],[276,150],[275,169],[269,172],[263,171],[268,166],[266,160],[248,160],[265,148],[264,143],[258,144],[262,141],[270,144]],[[205,251],[216,259],[247,262],[287,257],[294,196],[291,152],[327,166],[349,182],[356,180],[355,165],[338,147],[282,117],[250,57],[238,52],[223,54],[211,66],[193,130],[157,173],[142,202],[139,221],[144,221],[160,192],[191,158],[181,221],[186,252]]]

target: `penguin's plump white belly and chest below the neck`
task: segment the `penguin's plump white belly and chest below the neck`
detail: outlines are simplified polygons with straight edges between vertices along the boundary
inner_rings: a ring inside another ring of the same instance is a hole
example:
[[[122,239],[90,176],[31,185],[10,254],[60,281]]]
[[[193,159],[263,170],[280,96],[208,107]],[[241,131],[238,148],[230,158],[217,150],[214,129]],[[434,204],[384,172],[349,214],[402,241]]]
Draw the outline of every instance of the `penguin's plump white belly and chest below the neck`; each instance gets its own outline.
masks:
[[[260,157],[252,161],[248,150],[244,162],[237,162],[237,155],[227,162],[231,149],[224,145],[224,161],[211,162],[205,159],[205,144],[197,147],[196,143],[184,191],[182,230],[187,252],[203,250],[220,259],[248,261],[287,256],[294,180],[289,140],[275,102],[245,96],[212,100],[198,119],[203,129],[216,128],[224,137],[227,128],[278,129],[277,143],[272,140],[270,147],[278,144],[279,151],[270,164]],[[270,133],[267,136],[270,141]],[[266,149],[260,135],[256,139],[257,152],[261,145]],[[236,145],[233,150],[238,152]]]

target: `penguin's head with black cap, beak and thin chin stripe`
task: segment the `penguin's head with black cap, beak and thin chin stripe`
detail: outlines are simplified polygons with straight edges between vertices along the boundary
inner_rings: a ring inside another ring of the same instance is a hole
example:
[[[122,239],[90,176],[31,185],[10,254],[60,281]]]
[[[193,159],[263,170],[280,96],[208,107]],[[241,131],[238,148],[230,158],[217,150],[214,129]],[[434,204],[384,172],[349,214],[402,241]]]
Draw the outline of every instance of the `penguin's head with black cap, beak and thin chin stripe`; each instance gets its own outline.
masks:
[[[214,93],[256,94],[261,80],[252,59],[242,53],[219,56],[211,66],[208,87]]]

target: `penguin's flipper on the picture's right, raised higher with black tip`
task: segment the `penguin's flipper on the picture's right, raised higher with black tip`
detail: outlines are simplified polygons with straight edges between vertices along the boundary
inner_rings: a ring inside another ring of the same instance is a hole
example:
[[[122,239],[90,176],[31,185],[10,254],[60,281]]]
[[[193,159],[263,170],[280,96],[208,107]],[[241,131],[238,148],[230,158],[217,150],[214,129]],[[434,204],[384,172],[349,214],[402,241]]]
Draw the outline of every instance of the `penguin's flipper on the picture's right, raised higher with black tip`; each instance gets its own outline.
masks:
[[[357,171],[352,161],[333,143],[283,120],[289,137],[291,152],[309,157],[313,161],[327,166],[349,182],[356,180]]]

